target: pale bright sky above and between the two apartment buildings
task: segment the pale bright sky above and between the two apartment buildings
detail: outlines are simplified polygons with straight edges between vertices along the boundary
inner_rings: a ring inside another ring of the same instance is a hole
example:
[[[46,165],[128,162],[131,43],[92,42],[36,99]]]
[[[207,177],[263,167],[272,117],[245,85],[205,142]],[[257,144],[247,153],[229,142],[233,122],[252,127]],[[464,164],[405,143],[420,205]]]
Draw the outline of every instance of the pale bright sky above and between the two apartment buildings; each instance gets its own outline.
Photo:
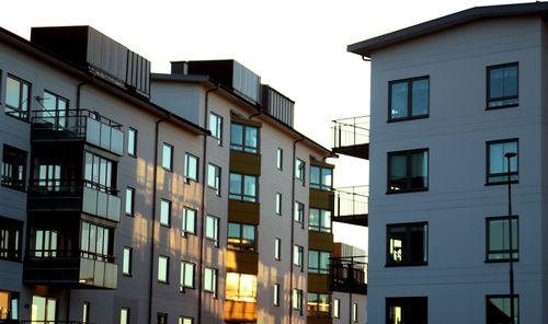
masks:
[[[30,38],[32,26],[91,25],[151,61],[236,59],[296,102],[295,128],[331,148],[331,120],[369,115],[370,63],[349,44],[505,0],[19,0],[3,1],[0,26]],[[334,159],[333,159],[334,160]],[[341,157],[335,186],[368,183],[368,162]],[[364,228],[334,225],[335,241],[365,248]]]

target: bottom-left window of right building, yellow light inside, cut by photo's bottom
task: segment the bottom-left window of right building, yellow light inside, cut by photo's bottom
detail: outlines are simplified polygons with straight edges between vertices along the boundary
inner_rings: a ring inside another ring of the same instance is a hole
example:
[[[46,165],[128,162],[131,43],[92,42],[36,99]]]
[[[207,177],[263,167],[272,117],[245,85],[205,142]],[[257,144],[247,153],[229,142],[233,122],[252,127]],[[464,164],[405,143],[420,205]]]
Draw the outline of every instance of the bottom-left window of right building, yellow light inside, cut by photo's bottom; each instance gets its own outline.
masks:
[[[386,323],[429,323],[427,297],[387,298]]]

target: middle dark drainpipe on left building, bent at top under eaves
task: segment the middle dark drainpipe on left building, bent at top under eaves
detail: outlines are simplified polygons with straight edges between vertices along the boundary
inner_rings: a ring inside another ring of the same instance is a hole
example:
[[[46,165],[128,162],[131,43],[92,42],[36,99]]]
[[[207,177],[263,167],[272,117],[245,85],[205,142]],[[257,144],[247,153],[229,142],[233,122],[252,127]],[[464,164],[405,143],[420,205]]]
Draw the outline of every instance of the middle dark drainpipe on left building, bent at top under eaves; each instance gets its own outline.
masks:
[[[204,108],[204,128],[207,129],[207,117],[209,115],[209,93],[219,90],[219,84],[217,83],[215,88],[209,89],[205,93],[205,108]],[[202,225],[199,228],[199,273],[198,273],[198,323],[202,323],[202,292],[203,292],[203,285],[202,285],[202,268],[204,266],[204,228],[205,228],[205,207],[206,207],[206,167],[207,167],[207,134],[204,135],[204,144],[203,144],[203,150],[204,150],[204,157],[202,158]]]

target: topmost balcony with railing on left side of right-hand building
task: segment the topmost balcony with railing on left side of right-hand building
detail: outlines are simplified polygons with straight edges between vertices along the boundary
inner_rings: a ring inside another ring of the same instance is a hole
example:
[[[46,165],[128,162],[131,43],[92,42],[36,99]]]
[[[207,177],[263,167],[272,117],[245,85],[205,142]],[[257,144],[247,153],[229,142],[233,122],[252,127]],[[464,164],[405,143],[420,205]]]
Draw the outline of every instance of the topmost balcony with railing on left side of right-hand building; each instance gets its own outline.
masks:
[[[369,116],[333,120],[333,152],[369,160]]]

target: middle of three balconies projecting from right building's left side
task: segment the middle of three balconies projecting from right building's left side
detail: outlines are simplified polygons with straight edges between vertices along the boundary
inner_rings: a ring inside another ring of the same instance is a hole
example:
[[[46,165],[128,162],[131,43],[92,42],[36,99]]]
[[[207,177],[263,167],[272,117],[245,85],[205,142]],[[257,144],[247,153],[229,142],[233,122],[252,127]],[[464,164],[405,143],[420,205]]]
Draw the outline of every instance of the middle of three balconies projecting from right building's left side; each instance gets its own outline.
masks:
[[[354,225],[368,225],[369,186],[340,187],[334,189],[333,221]]]

